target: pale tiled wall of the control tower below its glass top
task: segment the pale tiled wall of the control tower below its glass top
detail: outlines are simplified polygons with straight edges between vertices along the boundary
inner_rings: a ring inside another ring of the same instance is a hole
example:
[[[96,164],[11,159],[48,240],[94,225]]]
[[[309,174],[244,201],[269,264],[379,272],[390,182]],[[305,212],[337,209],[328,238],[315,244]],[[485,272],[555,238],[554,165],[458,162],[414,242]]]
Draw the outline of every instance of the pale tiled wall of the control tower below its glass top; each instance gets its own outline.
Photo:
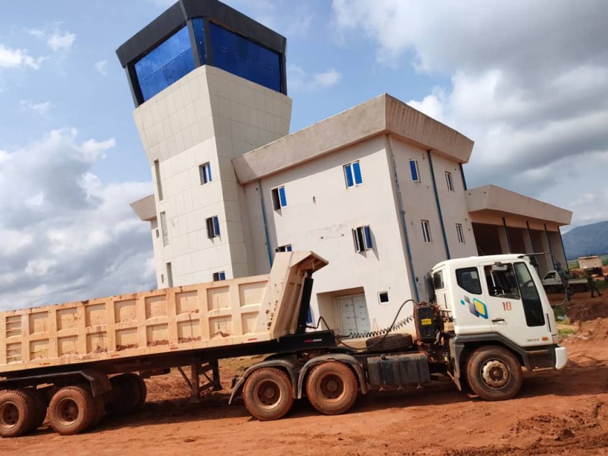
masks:
[[[231,159],[287,135],[291,100],[201,66],[140,105],[133,117],[150,161],[157,213],[166,214],[168,245],[160,234],[154,246],[159,287],[167,286],[166,263],[174,286],[210,281],[220,271],[226,279],[252,274],[247,207]],[[207,162],[212,181],[201,184],[199,166]],[[205,220],[212,216],[219,219],[220,236],[210,239]]]

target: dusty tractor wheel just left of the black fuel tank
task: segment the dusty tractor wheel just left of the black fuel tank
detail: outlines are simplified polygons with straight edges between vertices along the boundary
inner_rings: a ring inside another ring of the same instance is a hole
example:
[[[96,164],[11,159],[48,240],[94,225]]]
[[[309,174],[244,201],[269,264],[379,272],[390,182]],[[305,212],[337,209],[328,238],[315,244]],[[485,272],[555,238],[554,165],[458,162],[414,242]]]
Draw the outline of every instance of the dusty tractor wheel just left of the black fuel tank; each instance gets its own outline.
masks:
[[[312,369],[306,381],[310,404],[325,415],[348,411],[357,398],[357,380],[347,365],[328,361]]]

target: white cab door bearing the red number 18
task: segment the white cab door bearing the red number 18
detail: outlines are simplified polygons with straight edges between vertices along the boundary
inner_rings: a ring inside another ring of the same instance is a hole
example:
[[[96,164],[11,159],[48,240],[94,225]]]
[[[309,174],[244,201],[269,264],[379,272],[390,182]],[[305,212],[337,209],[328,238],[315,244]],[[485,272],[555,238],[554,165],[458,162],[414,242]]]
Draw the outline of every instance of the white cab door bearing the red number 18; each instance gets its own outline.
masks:
[[[484,295],[488,319],[498,332],[519,346],[551,343],[540,294],[523,262],[485,263]]]

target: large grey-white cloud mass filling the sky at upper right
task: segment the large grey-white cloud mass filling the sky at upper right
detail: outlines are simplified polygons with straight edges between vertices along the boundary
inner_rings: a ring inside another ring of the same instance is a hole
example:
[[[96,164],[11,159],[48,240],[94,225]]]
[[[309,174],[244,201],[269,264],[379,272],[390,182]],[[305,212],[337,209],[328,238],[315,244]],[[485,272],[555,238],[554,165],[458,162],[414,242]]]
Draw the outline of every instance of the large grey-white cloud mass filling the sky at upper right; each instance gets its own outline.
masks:
[[[608,200],[572,197],[605,193],[607,15],[599,0],[333,1],[341,41],[363,34],[380,64],[448,77],[408,103],[475,140],[470,186],[567,207],[574,223],[608,218]]]

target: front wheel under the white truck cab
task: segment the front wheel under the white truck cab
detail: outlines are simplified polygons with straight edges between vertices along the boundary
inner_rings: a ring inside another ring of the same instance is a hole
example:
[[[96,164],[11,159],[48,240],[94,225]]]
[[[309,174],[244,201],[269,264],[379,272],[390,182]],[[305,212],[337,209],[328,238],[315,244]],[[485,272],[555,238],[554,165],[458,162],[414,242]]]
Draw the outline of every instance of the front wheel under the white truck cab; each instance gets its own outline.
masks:
[[[519,392],[523,374],[513,353],[498,346],[484,346],[468,358],[467,379],[470,388],[482,399],[504,401]]]

